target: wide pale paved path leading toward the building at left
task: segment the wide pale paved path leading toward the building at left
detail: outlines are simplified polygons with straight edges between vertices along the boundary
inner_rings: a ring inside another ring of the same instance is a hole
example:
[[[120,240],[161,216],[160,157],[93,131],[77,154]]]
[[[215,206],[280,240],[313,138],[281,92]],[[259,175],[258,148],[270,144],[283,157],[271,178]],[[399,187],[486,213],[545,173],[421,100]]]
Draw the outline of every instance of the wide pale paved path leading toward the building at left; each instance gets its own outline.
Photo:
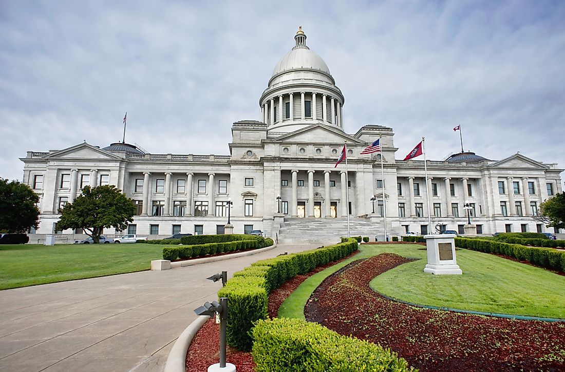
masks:
[[[162,371],[193,310],[217,298],[205,278],[314,247],[0,291],[0,371]]]

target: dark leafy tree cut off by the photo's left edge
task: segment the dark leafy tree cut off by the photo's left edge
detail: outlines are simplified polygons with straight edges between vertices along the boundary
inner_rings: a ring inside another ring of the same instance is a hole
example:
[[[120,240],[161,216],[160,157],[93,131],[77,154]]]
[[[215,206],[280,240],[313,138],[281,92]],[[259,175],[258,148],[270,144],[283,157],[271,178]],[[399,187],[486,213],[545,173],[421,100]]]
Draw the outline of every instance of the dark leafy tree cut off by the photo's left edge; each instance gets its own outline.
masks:
[[[28,185],[0,178],[0,231],[25,233],[39,224],[39,196]]]

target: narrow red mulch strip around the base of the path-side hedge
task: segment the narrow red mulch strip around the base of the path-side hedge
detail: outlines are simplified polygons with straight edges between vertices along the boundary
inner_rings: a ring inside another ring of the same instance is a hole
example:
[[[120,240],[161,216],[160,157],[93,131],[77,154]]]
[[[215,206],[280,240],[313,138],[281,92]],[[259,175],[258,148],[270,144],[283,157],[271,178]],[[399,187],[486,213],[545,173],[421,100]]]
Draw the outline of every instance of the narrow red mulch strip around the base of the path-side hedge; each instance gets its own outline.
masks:
[[[306,278],[321,272],[347,258],[357,255],[357,252],[337,261],[330,262],[324,266],[312,270],[306,275],[296,275],[285,282],[282,286],[269,294],[268,314],[276,318],[279,307]],[[214,318],[208,320],[192,339],[188,352],[186,353],[186,372],[206,372],[208,366],[220,361],[220,325],[216,324]],[[226,360],[237,368],[237,372],[254,372],[255,363],[249,352],[242,352],[229,347],[226,350]]]

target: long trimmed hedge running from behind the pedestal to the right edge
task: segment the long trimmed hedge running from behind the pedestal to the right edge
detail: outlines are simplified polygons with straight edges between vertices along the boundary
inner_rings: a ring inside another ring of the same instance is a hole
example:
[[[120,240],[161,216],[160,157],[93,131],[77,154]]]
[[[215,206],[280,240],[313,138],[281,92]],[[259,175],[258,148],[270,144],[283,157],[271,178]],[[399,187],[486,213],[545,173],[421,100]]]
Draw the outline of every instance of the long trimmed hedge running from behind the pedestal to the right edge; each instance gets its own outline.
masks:
[[[544,268],[565,272],[565,251],[553,250],[551,248],[526,247],[521,244],[497,242],[496,240],[470,238],[455,238],[455,247],[506,255]]]

